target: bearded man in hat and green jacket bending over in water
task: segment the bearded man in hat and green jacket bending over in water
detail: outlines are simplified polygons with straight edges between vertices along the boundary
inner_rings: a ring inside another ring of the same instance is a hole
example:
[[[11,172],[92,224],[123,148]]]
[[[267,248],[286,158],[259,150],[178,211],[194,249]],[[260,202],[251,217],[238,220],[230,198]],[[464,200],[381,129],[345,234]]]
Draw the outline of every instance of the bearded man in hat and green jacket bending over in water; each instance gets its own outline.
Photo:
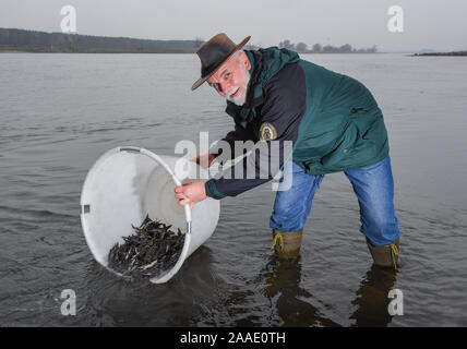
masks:
[[[195,160],[208,167],[220,154],[234,157],[236,141],[250,140],[256,148],[270,151],[276,166],[271,166],[264,178],[261,159],[253,152],[231,170],[235,173],[236,168],[254,164],[253,179],[224,176],[185,183],[175,190],[179,204],[192,206],[208,196],[236,196],[283,169],[280,185],[285,189],[279,185],[270,226],[276,254],[294,257],[299,253],[302,230],[323,177],[344,171],[358,197],[360,230],[374,263],[396,268],[400,231],[387,133],[373,96],[357,80],[301,60],[294,51],[277,47],[241,51],[249,39],[235,45],[223,33],[196,52],[201,79],[192,89],[207,81],[227,99],[226,112],[236,128],[223,140],[231,145],[231,154],[214,148]],[[283,156],[271,152],[274,142]],[[287,142],[292,143],[289,151]]]

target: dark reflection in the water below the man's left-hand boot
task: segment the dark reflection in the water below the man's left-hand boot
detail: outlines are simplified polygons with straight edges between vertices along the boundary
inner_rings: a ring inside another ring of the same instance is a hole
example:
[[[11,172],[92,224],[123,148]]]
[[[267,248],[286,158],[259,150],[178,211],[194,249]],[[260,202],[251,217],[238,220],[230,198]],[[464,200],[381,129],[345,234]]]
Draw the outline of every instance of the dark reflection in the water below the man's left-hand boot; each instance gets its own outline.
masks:
[[[339,326],[323,317],[315,306],[306,301],[311,299],[312,294],[300,287],[300,256],[284,260],[272,255],[263,275],[266,284],[264,296],[271,300],[272,306],[275,305],[277,315],[284,322],[283,326]]]

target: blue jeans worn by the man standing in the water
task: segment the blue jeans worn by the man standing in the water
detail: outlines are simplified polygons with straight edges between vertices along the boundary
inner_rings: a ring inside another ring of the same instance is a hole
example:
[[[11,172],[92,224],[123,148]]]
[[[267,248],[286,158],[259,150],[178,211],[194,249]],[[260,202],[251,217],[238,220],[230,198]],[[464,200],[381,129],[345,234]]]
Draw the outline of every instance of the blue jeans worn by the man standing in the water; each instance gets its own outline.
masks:
[[[394,208],[390,156],[374,165],[345,171],[345,174],[350,180],[360,205],[360,231],[376,248],[393,243],[400,236],[400,230]],[[271,228],[282,231],[303,229],[314,193],[323,178],[323,174],[307,174],[300,166],[288,161],[274,202]],[[290,188],[280,191],[280,185],[287,182]]]

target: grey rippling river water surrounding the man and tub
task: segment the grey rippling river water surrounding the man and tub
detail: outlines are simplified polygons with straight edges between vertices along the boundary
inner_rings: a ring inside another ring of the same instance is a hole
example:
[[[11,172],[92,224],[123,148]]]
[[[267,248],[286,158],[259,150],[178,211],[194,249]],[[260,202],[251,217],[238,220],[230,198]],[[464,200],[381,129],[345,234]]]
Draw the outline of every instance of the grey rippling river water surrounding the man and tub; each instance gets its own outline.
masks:
[[[85,176],[120,145],[173,155],[232,129],[195,55],[0,55],[0,325],[466,326],[467,60],[304,55],[349,74],[385,116],[400,267],[372,267],[343,173],[326,176],[301,256],[273,256],[264,184],[221,201],[213,237],[165,285],[129,282],[94,260],[80,221]],[[390,316],[387,293],[403,292]],[[76,294],[63,316],[61,291]]]

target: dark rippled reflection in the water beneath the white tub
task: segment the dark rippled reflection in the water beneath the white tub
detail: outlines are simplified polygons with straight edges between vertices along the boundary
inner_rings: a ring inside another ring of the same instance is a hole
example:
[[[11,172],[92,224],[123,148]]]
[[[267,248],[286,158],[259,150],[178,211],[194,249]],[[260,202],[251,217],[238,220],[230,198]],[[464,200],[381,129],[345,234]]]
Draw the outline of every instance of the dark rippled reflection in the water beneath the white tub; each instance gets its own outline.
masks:
[[[95,261],[86,274],[86,316],[93,326],[190,326],[213,308],[218,285],[211,249],[201,246],[167,284],[124,280]],[[84,292],[83,292],[84,293]]]

